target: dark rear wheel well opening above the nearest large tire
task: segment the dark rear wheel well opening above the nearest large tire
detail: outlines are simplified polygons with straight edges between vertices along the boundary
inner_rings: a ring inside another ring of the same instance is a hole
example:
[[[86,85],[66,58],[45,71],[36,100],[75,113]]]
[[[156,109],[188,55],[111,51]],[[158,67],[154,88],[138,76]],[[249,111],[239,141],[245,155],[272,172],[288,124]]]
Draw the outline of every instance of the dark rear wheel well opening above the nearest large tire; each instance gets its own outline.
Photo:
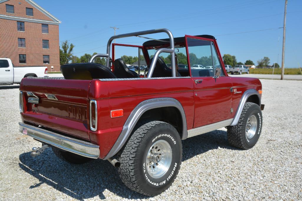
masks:
[[[158,107],[146,111],[137,121],[137,123],[148,120],[148,121],[163,121],[171,124],[182,137],[182,115],[176,107]]]

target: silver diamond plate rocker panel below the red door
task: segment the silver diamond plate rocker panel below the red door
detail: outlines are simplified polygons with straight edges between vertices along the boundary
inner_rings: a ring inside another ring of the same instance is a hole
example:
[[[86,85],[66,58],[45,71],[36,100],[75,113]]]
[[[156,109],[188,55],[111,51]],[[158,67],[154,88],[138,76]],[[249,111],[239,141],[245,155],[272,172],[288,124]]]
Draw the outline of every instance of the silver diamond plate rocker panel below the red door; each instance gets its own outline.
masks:
[[[210,132],[216,129],[220,129],[223,128],[225,126],[230,126],[230,124],[232,123],[233,118],[232,119],[228,119],[228,120],[223,120],[217,123],[212,123],[209,125],[205,125],[205,126],[201,126],[198,128],[194,128],[194,129],[190,129],[188,130],[188,138],[189,137],[193,137],[193,136],[198,136],[200,134],[206,133],[206,132]]]

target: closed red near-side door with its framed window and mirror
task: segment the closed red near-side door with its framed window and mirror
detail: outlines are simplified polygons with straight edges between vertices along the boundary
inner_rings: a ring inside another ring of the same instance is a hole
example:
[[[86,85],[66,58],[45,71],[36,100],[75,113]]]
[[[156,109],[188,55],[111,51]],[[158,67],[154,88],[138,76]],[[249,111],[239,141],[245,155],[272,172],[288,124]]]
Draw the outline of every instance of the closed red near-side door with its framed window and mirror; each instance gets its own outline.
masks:
[[[231,118],[232,87],[215,40],[186,36],[188,63],[194,82],[194,128]],[[193,69],[201,65],[202,69]],[[214,78],[217,68],[220,76]]]

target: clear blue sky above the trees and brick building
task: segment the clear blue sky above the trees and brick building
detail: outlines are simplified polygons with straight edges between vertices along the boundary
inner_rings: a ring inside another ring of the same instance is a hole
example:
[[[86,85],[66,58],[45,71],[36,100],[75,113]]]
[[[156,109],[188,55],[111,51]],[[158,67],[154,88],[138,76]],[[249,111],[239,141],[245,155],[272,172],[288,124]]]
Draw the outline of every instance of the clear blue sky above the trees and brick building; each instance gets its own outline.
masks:
[[[35,2],[62,21],[60,41],[73,43],[76,56],[106,53],[107,41],[114,34],[111,26],[120,28],[117,34],[168,28],[174,37],[213,35],[221,54],[235,55],[238,62],[251,59],[256,64],[268,56],[272,64],[279,54],[281,65],[283,29],[276,28],[283,27],[285,0]],[[289,0],[287,12],[285,67],[297,67],[298,62],[302,65],[302,1]],[[235,34],[240,32],[249,33]],[[160,39],[166,35],[149,37]],[[116,42],[141,45],[143,41],[146,40],[131,37]]]

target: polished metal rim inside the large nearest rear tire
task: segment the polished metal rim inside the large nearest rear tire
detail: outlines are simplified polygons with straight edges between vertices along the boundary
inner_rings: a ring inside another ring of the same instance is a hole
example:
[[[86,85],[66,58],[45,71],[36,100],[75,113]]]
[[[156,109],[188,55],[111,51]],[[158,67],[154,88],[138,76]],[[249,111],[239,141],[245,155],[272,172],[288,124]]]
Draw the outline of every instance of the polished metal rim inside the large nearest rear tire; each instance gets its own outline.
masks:
[[[172,149],[165,140],[159,140],[149,148],[146,157],[146,169],[153,178],[162,177],[168,170],[172,161]]]

